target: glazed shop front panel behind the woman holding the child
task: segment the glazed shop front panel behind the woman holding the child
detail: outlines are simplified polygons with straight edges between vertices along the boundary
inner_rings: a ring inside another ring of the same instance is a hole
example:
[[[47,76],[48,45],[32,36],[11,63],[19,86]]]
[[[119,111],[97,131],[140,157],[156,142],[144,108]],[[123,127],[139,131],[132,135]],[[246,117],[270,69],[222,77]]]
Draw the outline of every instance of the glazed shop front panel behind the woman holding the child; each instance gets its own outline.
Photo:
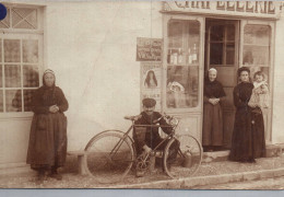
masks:
[[[240,67],[250,69],[250,78],[253,82],[255,73],[261,72],[269,85],[270,101],[272,96],[272,68],[274,51],[273,35],[274,23],[261,21],[242,21],[241,23],[241,53]],[[262,108],[265,140],[271,141],[271,102],[268,108]]]

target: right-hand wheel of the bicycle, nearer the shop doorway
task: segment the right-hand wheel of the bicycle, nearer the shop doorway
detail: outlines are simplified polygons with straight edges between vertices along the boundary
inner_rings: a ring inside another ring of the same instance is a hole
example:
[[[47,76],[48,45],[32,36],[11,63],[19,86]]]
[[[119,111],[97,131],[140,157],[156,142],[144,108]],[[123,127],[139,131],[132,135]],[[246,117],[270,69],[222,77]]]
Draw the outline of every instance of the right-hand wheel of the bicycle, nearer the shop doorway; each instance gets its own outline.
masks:
[[[176,157],[173,157],[176,140],[179,148]],[[190,135],[181,135],[173,138],[165,148],[164,169],[171,178],[192,176],[199,169],[202,160],[202,148],[200,142]]]

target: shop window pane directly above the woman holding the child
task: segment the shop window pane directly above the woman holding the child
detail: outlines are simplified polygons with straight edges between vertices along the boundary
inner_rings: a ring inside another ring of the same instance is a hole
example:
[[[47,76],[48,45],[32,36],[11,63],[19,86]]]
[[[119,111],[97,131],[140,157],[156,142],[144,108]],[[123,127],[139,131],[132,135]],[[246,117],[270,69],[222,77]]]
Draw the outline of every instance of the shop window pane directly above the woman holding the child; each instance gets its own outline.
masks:
[[[242,63],[246,66],[255,65],[255,66],[267,66],[269,67],[269,55],[270,47],[265,46],[244,46],[244,61]]]

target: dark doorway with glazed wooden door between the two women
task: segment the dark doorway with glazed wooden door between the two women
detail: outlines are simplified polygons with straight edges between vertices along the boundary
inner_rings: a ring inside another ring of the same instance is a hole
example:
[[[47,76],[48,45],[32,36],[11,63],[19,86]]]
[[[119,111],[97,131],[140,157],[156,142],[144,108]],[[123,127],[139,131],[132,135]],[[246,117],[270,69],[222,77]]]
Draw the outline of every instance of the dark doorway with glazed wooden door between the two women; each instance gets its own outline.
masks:
[[[205,20],[204,76],[210,68],[217,70],[217,80],[223,84],[226,99],[223,111],[223,149],[230,148],[235,107],[233,90],[237,84],[239,21]]]

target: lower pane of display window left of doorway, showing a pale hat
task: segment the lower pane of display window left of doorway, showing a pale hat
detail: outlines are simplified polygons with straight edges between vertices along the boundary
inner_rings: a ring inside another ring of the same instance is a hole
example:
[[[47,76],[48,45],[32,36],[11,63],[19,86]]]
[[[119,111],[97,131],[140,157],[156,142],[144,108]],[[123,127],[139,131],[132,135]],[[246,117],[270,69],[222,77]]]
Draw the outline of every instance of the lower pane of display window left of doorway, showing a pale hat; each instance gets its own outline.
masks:
[[[169,66],[167,68],[167,107],[196,107],[198,89],[199,67]]]

